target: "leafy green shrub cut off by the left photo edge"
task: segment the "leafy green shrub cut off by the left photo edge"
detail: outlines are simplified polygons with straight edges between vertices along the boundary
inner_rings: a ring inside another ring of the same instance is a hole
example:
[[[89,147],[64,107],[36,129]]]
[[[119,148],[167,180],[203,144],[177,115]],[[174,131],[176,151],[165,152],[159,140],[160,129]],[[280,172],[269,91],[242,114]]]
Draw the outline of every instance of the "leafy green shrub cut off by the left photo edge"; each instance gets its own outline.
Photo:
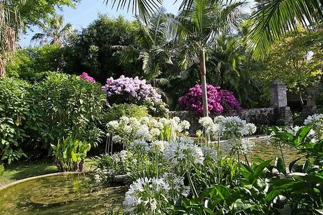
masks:
[[[22,156],[22,142],[26,137],[24,126],[30,115],[29,89],[22,80],[0,79],[0,159],[13,162]]]

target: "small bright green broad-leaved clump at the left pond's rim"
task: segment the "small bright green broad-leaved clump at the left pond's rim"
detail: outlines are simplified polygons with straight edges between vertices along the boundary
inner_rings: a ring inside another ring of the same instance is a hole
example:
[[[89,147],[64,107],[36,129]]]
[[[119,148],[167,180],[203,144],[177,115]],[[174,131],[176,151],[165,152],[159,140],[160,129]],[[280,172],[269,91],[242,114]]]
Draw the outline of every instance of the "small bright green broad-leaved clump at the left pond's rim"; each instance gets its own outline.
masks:
[[[51,148],[59,171],[83,171],[84,159],[91,144],[68,136],[65,140],[58,141],[57,145],[51,145]]]

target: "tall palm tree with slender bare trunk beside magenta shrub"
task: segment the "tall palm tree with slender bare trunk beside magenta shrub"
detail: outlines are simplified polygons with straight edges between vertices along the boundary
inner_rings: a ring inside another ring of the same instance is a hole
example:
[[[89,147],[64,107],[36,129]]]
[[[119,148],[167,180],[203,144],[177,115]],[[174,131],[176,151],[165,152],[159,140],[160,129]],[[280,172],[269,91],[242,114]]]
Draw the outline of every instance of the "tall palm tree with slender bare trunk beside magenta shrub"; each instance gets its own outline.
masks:
[[[242,2],[233,4],[224,1],[195,0],[185,8],[178,18],[171,20],[169,27],[173,41],[178,44],[179,65],[187,68],[197,63],[202,81],[202,100],[204,116],[209,115],[206,92],[206,53],[216,45],[221,34],[228,34],[233,27],[238,27],[244,15],[241,13]]]

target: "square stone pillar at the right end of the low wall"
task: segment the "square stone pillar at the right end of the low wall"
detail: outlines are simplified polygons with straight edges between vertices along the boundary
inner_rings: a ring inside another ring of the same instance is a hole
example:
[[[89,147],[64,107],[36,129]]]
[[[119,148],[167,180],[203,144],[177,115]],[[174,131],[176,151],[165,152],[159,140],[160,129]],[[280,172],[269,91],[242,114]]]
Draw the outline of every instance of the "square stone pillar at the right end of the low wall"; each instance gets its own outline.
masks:
[[[275,107],[277,125],[293,124],[293,115],[287,106],[287,87],[279,79],[270,86],[270,106]]]

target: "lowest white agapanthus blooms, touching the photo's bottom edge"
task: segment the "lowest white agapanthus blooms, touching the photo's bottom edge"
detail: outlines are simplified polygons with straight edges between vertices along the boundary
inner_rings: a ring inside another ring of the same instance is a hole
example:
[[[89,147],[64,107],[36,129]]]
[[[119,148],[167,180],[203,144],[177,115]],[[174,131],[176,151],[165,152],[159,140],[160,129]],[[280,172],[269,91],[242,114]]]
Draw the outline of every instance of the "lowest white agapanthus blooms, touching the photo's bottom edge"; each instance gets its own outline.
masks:
[[[176,202],[189,193],[184,178],[175,174],[164,174],[163,178],[139,178],[126,192],[124,211],[128,214],[166,214],[169,202]]]

